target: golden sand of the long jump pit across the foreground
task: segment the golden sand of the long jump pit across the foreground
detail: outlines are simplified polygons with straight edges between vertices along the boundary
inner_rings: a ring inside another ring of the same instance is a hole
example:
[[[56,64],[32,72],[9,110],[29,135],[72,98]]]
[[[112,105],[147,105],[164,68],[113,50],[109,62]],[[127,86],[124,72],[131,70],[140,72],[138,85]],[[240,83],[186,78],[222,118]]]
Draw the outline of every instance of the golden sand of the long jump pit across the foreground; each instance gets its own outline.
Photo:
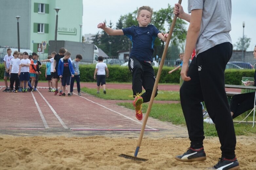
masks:
[[[241,169],[256,168],[256,137],[238,137],[236,154]],[[133,161],[119,154],[133,156],[137,138],[93,137],[13,137],[0,136],[0,169],[51,170],[167,170],[206,169],[220,156],[218,138],[204,142],[207,160],[184,163],[174,156],[186,151],[188,138],[144,138],[138,157]]]

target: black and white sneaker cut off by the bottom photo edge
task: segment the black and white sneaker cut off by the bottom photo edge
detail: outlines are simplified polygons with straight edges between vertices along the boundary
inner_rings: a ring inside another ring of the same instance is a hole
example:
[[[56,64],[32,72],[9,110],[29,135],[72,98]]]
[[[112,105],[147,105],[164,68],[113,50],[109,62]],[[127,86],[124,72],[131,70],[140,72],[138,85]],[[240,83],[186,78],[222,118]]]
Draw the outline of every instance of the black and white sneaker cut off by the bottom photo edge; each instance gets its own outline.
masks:
[[[219,170],[236,170],[239,169],[239,163],[236,157],[232,160],[228,160],[226,158],[219,158],[219,162],[213,166],[212,169],[219,169]]]

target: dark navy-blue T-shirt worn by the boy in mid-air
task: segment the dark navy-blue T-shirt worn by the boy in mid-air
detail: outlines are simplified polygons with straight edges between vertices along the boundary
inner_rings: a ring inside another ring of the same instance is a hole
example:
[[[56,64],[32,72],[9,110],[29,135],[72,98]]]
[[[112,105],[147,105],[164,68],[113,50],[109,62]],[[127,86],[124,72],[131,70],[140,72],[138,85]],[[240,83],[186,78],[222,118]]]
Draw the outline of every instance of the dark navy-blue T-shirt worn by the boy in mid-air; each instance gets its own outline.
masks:
[[[124,35],[132,42],[130,57],[136,57],[140,61],[153,61],[154,42],[160,31],[154,25],[147,27],[131,26],[122,29]]]

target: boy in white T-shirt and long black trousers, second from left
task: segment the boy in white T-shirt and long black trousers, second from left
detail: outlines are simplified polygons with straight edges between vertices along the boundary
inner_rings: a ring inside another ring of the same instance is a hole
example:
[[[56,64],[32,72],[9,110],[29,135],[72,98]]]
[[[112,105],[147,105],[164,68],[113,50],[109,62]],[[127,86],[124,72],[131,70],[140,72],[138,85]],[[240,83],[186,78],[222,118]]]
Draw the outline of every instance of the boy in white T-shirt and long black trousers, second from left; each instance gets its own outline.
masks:
[[[13,52],[14,58],[11,59],[10,61],[10,72],[9,72],[9,75],[10,75],[10,91],[9,92],[12,92],[13,84],[15,81],[15,91],[14,91],[15,93],[17,93],[19,89],[19,76],[20,76],[20,69],[21,69],[21,62],[20,62],[20,59],[18,58],[18,54],[19,54],[18,51]]]

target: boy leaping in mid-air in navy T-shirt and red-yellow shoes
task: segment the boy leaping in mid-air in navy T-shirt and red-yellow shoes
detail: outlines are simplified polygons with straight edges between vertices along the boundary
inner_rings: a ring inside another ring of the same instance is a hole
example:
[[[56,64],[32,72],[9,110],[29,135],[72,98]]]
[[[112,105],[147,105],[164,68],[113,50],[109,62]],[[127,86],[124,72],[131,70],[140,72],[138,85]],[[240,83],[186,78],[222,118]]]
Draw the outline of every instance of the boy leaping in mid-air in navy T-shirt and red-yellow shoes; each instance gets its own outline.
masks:
[[[102,28],[109,35],[126,35],[132,41],[128,67],[132,73],[132,91],[135,97],[133,106],[138,120],[142,120],[142,103],[150,101],[155,83],[154,69],[150,64],[153,62],[154,40],[158,37],[166,42],[168,36],[160,33],[154,25],[149,25],[152,15],[153,10],[150,7],[142,6],[137,11],[139,26],[114,30],[106,27],[105,23],[98,24],[98,28]],[[142,86],[146,90],[143,94]],[[157,91],[154,95],[157,95]]]

